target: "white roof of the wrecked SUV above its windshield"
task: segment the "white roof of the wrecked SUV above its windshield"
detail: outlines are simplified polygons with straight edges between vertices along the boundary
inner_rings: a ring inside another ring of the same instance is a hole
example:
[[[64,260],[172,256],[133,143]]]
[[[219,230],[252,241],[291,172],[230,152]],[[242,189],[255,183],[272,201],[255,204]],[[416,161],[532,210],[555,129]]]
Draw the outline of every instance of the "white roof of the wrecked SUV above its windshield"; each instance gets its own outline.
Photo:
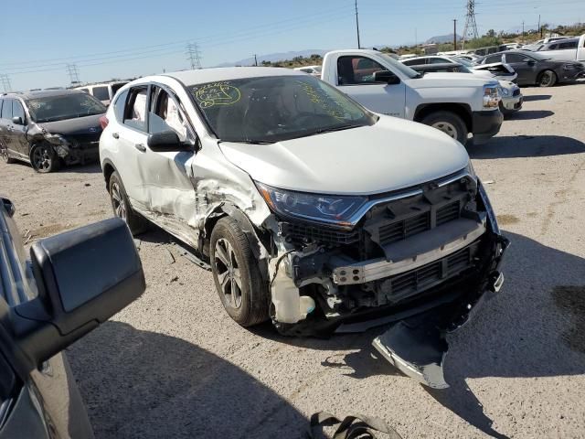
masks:
[[[185,85],[205,84],[215,80],[239,80],[261,76],[298,76],[299,72],[278,67],[220,67],[214,69],[183,70],[165,73]]]

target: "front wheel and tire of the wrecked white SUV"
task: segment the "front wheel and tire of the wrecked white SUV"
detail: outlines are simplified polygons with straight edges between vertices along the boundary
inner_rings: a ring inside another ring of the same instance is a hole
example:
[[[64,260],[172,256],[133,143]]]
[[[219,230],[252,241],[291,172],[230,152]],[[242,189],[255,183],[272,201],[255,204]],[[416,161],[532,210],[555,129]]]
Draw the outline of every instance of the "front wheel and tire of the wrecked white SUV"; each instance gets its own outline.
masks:
[[[268,285],[262,281],[250,241],[238,222],[229,217],[219,219],[211,232],[209,249],[213,279],[228,315],[242,327],[267,320]]]

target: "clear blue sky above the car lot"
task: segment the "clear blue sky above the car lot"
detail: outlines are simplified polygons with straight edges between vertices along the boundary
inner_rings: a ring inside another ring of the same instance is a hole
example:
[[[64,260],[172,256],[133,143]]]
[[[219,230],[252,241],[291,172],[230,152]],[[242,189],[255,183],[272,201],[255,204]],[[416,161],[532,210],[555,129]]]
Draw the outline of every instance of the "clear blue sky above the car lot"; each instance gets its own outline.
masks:
[[[189,67],[197,43],[203,67],[308,48],[356,47],[353,0],[2,0],[0,74],[13,90],[128,78]],[[465,0],[358,0],[363,47],[423,41],[463,31]],[[585,0],[479,0],[480,33],[585,21]],[[0,91],[2,87],[0,86]]]

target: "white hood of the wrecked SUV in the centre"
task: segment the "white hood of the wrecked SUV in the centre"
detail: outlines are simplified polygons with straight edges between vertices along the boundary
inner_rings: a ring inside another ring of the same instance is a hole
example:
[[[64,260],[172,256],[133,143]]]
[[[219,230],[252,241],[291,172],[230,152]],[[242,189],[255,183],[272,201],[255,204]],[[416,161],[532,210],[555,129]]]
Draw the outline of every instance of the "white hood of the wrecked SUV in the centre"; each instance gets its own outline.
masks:
[[[421,123],[380,116],[372,126],[270,145],[221,142],[254,180],[321,194],[367,195],[412,187],[467,166],[463,145]]]

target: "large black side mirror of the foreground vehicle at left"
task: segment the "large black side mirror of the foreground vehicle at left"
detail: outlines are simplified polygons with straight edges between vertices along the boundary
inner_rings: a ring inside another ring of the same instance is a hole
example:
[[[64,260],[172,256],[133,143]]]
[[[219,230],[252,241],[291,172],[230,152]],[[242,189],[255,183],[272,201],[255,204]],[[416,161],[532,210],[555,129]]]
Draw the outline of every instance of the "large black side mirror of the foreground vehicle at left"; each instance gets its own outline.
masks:
[[[122,219],[38,241],[30,256],[38,295],[12,309],[16,345],[28,370],[98,327],[145,289],[142,264]]]

